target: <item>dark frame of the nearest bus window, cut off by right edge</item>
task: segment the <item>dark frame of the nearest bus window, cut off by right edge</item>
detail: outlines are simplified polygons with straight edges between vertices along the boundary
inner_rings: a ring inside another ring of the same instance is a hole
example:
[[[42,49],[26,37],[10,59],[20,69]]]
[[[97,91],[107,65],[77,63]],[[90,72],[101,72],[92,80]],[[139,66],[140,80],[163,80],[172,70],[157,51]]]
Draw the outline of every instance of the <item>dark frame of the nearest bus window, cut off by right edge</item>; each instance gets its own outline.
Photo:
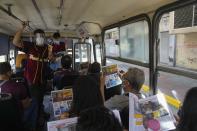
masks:
[[[168,5],[165,5],[163,7],[160,7],[159,9],[156,10],[153,20],[152,20],[152,43],[153,43],[153,67],[154,67],[154,75],[153,75],[153,94],[157,93],[157,81],[158,81],[158,76],[159,76],[159,71],[167,72],[167,73],[172,73],[175,75],[181,75],[185,77],[189,77],[192,79],[197,79],[197,72],[184,69],[184,68],[179,68],[179,67],[169,67],[169,66],[164,66],[159,64],[159,23],[160,20],[165,13],[169,13],[171,11],[174,11],[175,9],[179,9],[188,5],[193,5],[197,4],[196,0],[183,0],[183,1],[177,1]]]

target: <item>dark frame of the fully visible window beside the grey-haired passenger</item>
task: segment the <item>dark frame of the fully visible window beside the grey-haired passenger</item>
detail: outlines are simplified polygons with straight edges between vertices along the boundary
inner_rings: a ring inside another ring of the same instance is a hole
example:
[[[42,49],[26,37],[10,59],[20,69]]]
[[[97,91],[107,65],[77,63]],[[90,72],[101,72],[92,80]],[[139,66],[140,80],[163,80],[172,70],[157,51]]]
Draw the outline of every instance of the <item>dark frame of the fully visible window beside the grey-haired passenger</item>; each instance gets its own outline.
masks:
[[[148,35],[148,38],[149,38],[149,42],[148,42],[149,62],[148,63],[143,63],[143,62],[140,62],[140,61],[125,59],[125,58],[121,58],[121,57],[106,56],[106,48],[105,48],[105,42],[104,42],[105,31],[107,31],[109,29],[112,29],[112,28],[118,28],[119,37],[120,37],[120,27],[121,26],[125,26],[125,25],[128,25],[128,24],[132,24],[132,23],[139,22],[139,21],[144,21],[144,20],[148,24],[148,32],[149,32],[149,35]],[[139,15],[130,17],[126,20],[119,21],[119,22],[114,23],[112,25],[106,26],[106,27],[103,28],[102,33],[101,33],[101,35],[102,35],[102,53],[103,53],[102,65],[106,65],[106,59],[109,58],[109,59],[114,59],[114,60],[118,60],[118,61],[121,61],[121,62],[126,62],[126,63],[130,63],[130,64],[134,64],[134,65],[137,65],[137,66],[142,66],[142,67],[148,68],[149,69],[149,86],[151,88],[150,90],[152,90],[152,87],[153,87],[153,76],[154,76],[154,66],[153,66],[154,65],[154,63],[153,63],[154,52],[153,52],[153,48],[152,48],[153,44],[152,44],[152,30],[151,29],[152,29],[152,24],[151,24],[150,17],[147,14],[139,14]]]

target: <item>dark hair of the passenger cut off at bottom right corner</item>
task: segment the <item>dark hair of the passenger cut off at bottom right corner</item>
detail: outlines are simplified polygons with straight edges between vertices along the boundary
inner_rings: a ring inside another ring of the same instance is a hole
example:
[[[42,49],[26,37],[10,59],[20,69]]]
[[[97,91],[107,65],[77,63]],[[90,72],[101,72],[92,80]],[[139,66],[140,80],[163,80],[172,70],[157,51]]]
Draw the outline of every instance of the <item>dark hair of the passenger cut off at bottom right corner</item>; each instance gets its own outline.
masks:
[[[181,108],[178,125],[179,131],[197,131],[197,87],[191,88],[185,97]]]

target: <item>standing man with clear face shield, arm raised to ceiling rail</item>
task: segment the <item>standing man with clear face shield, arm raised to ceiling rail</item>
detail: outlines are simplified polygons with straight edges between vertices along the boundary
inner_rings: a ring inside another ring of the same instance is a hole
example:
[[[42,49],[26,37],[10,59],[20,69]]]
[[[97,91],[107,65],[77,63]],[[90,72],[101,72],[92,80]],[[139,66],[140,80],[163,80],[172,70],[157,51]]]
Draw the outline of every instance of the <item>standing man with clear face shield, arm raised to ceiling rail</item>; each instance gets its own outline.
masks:
[[[31,97],[39,105],[38,114],[40,114],[46,85],[47,62],[51,56],[52,48],[45,44],[45,33],[41,29],[34,31],[33,42],[22,41],[21,35],[25,27],[26,23],[23,23],[22,28],[14,36],[13,44],[28,55],[24,76],[29,84]]]

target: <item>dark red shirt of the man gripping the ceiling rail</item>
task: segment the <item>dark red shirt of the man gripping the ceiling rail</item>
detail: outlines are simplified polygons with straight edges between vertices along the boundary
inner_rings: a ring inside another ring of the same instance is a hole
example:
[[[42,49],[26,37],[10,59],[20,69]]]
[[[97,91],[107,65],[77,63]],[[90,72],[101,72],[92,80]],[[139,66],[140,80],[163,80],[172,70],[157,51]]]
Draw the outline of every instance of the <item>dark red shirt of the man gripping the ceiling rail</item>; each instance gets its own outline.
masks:
[[[23,42],[23,49],[28,55],[25,78],[30,84],[41,84],[45,81],[47,68],[48,46],[37,46],[32,42]]]

